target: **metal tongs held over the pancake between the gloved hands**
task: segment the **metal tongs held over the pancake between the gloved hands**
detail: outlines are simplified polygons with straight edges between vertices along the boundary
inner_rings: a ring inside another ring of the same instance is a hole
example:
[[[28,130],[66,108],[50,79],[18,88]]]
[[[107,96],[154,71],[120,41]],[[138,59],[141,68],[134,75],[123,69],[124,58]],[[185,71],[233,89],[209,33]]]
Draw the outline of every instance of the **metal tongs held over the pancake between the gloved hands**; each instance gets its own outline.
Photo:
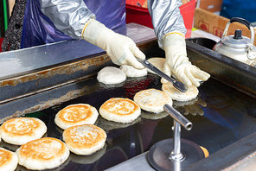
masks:
[[[181,81],[177,81],[175,79],[171,79],[168,75],[160,71],[156,66],[153,66],[148,60],[140,60],[137,58],[137,60],[146,68],[149,68],[152,72],[157,73],[160,77],[163,77],[163,79],[168,80],[170,83],[173,84],[174,87],[176,87],[177,90],[181,92],[187,92],[188,86],[184,85]]]

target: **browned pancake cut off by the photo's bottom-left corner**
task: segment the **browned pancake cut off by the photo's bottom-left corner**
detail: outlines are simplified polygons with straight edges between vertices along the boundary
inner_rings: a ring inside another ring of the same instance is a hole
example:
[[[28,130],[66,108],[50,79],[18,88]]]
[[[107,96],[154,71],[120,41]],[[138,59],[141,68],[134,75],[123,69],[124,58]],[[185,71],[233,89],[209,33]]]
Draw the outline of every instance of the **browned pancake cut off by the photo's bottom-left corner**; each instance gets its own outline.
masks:
[[[0,148],[0,170],[15,170],[18,164],[18,157],[10,150]]]

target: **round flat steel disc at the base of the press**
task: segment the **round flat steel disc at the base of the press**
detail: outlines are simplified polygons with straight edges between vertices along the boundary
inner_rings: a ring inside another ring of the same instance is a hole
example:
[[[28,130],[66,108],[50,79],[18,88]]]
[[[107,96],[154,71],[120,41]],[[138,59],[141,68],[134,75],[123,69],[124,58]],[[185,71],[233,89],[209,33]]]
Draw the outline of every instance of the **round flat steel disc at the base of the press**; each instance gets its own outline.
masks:
[[[181,139],[182,155],[181,161],[169,159],[173,150],[173,138],[165,139],[154,144],[148,153],[150,165],[161,171],[181,170],[189,165],[203,159],[204,153],[199,145],[186,139]]]

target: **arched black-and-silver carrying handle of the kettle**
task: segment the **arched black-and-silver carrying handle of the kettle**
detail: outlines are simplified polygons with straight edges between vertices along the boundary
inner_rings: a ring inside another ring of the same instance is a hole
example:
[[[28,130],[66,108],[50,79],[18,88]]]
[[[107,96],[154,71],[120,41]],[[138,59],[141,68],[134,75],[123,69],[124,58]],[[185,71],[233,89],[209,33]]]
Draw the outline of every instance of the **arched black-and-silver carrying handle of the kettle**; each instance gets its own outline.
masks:
[[[224,29],[224,32],[223,32],[223,35],[221,36],[221,39],[225,36],[227,36],[227,29],[230,25],[230,23],[233,23],[233,22],[240,22],[244,25],[246,25],[246,27],[251,31],[251,40],[249,42],[249,47],[252,47],[253,46],[253,41],[254,41],[254,31],[253,31],[253,26],[250,22],[246,21],[246,19],[243,19],[243,18],[240,18],[240,17],[233,17],[230,19],[230,21],[227,22],[227,25]]]

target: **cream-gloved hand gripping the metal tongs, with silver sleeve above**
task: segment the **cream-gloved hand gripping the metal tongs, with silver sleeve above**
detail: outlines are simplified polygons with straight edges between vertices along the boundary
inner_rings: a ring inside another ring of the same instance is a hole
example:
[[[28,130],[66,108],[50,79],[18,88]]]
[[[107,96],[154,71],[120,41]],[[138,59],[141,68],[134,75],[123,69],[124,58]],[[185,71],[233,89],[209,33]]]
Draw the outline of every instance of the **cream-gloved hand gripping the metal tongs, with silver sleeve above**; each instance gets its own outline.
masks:
[[[144,60],[145,55],[139,50],[135,42],[125,35],[119,35],[96,20],[89,20],[83,28],[82,38],[106,51],[106,54],[117,65],[129,65],[137,69],[144,66],[136,57]]]

